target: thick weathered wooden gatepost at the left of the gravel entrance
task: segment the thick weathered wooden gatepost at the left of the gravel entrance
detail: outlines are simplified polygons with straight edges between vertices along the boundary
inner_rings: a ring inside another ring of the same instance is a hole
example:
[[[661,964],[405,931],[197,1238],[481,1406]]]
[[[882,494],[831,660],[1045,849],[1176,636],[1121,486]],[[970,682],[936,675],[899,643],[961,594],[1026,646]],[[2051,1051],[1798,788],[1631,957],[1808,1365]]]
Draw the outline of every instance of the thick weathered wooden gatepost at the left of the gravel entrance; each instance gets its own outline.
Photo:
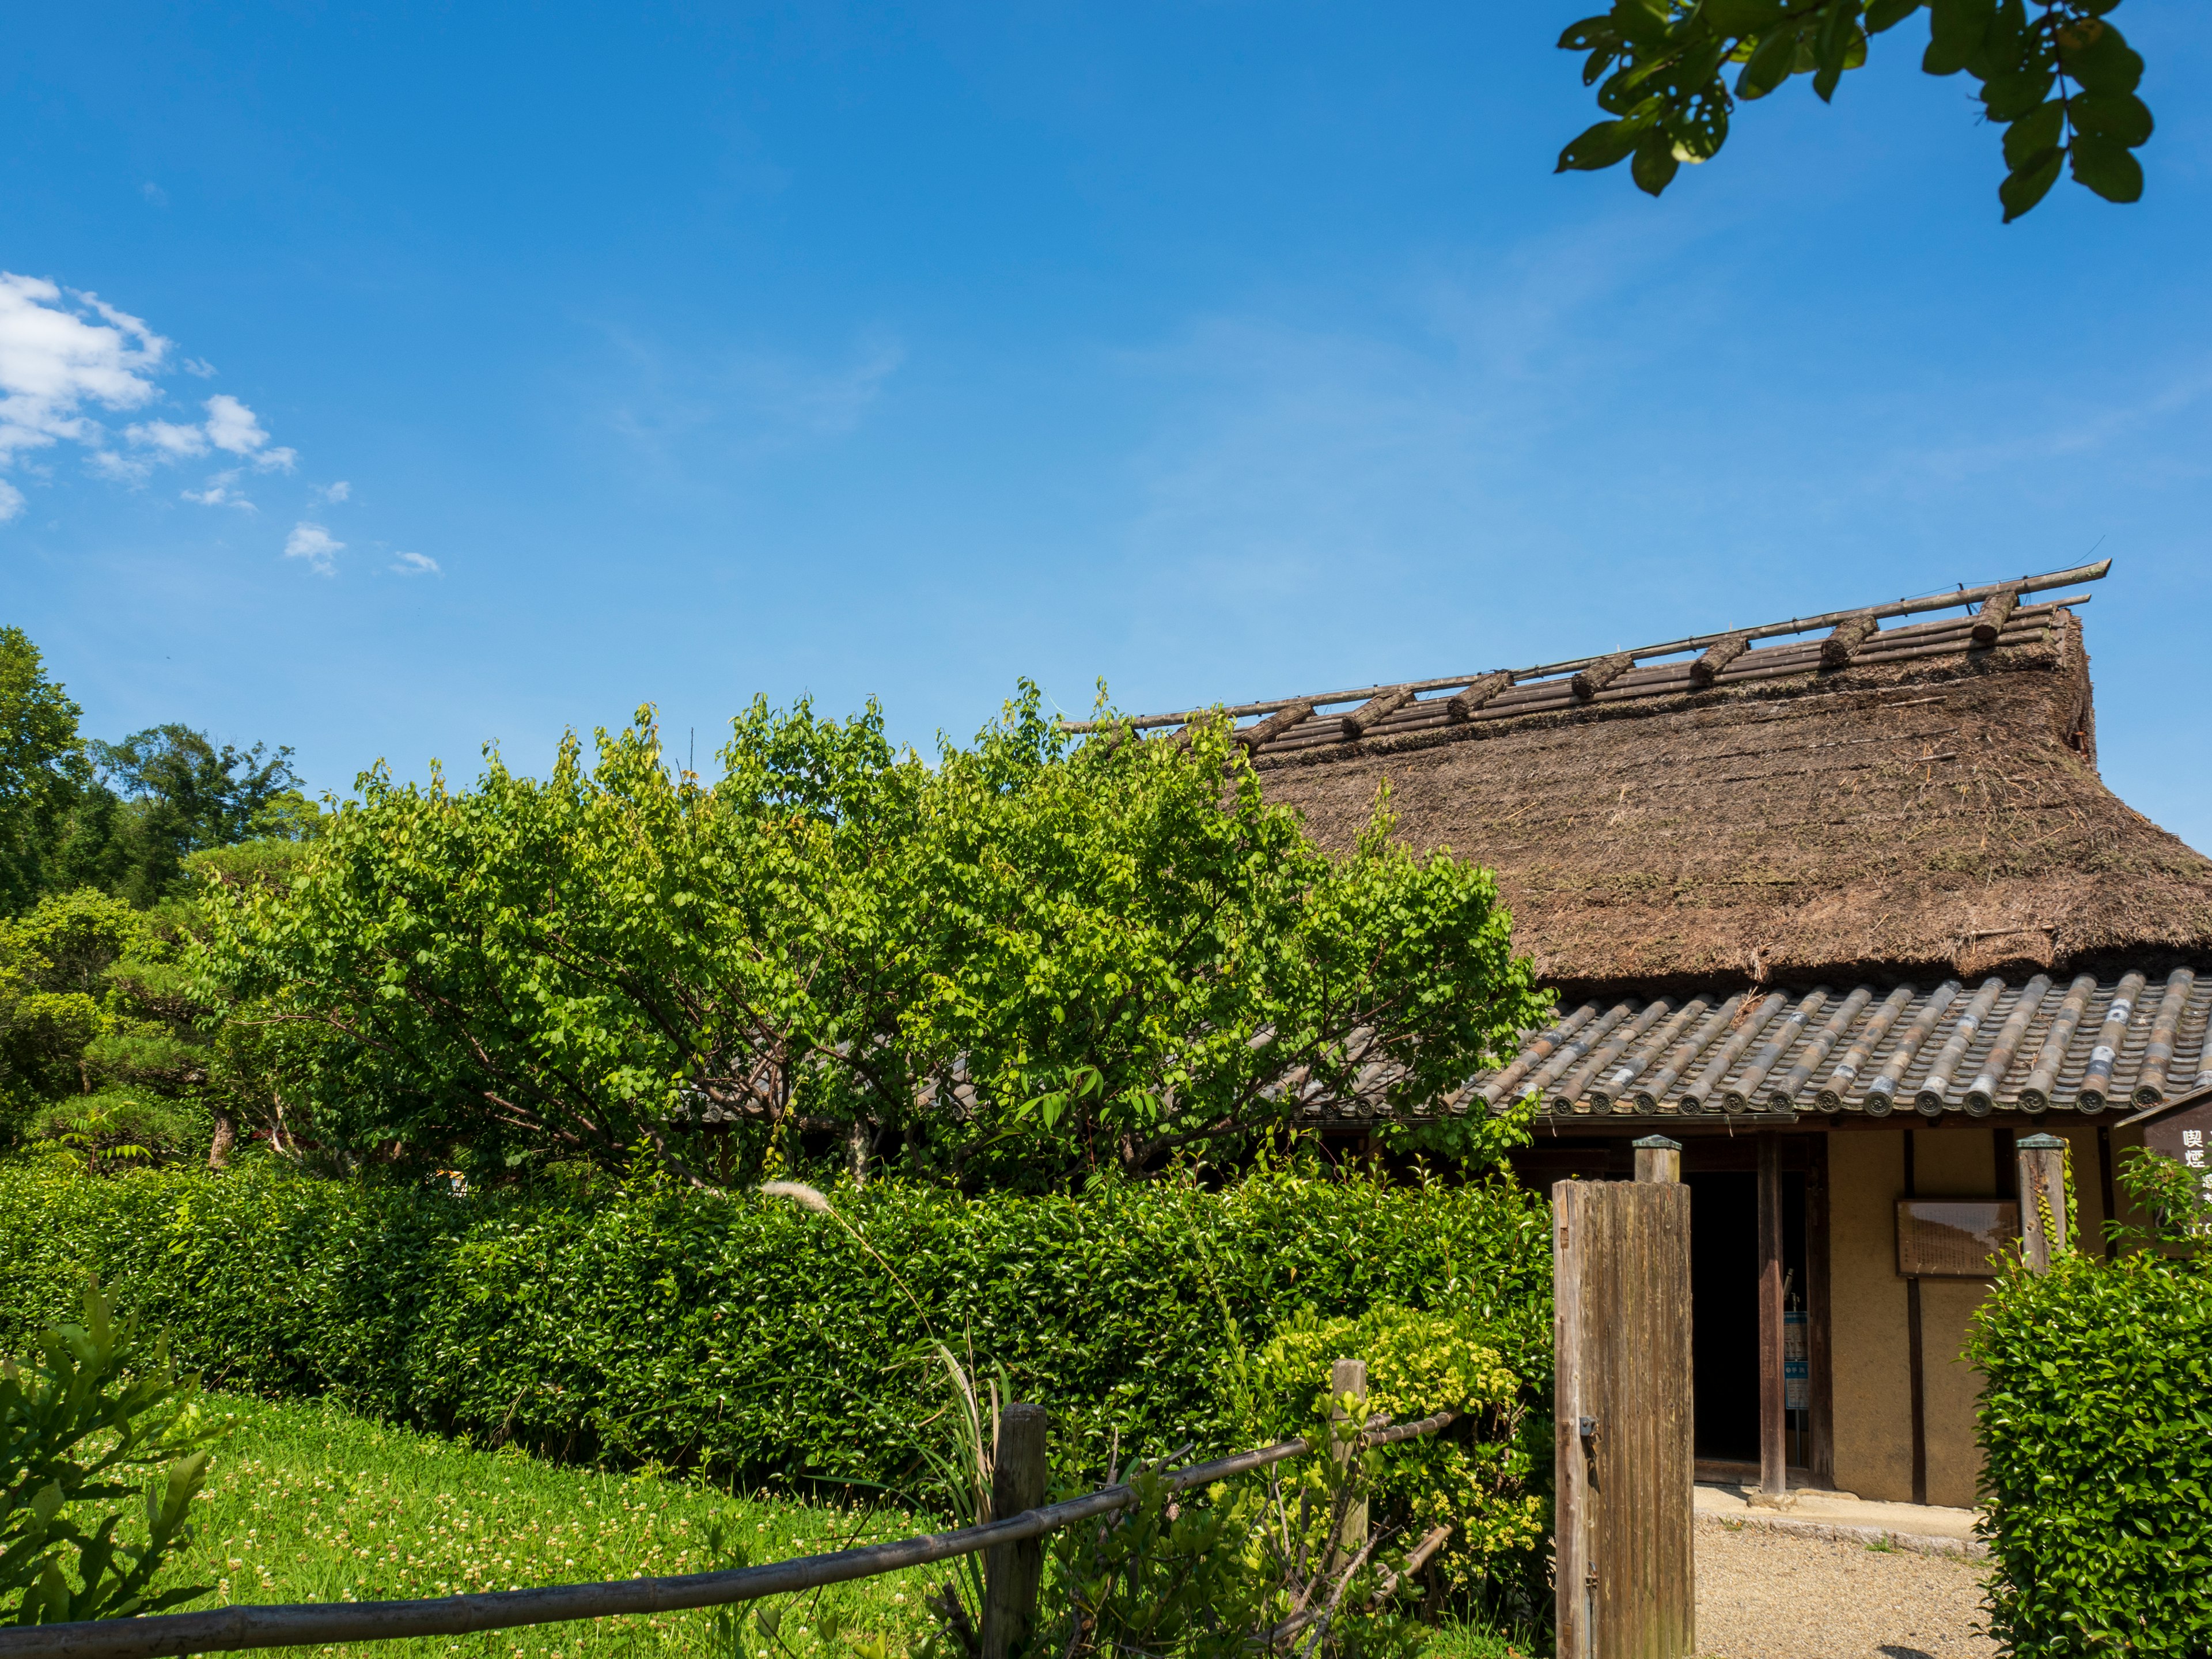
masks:
[[[1690,1659],[1694,1374],[1681,1148],[1559,1181],[1553,1219],[1553,1586],[1559,1659]]]

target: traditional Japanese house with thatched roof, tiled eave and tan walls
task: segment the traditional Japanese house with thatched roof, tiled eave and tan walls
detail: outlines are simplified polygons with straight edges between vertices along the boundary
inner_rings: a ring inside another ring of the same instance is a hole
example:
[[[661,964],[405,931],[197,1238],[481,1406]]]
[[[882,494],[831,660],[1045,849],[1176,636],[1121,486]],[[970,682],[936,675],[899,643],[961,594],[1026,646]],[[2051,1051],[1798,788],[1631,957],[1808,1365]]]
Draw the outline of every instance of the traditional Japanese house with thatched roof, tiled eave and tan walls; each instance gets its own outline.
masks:
[[[2119,1119],[2212,1086],[2212,860],[2097,776],[2106,568],[1139,721],[1232,717],[1325,845],[1387,779],[1407,841],[1498,872],[1557,1024],[1429,1110],[1533,1095],[1544,1186],[1683,1144],[1708,1473],[1765,1429],[1772,1484],[1781,1444],[1796,1484],[1971,1504],[2015,1137],[2064,1137],[2104,1248]]]

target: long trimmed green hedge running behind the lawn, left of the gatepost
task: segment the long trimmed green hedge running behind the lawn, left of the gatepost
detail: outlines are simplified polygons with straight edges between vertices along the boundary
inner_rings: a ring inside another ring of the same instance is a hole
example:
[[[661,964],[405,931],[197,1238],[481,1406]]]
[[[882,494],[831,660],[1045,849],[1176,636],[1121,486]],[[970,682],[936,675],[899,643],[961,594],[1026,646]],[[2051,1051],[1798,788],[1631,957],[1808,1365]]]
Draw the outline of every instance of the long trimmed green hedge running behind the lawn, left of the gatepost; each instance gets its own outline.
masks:
[[[905,1482],[942,1398],[938,1338],[1048,1402],[1093,1462],[1115,1427],[1124,1455],[1225,1447],[1237,1378],[1279,1325],[1385,1301],[1471,1316],[1548,1405],[1546,1208],[1504,1181],[982,1199],[889,1181],[834,1203],[20,1161],[0,1166],[0,1347],[66,1316],[93,1270],[210,1385],[743,1482]]]

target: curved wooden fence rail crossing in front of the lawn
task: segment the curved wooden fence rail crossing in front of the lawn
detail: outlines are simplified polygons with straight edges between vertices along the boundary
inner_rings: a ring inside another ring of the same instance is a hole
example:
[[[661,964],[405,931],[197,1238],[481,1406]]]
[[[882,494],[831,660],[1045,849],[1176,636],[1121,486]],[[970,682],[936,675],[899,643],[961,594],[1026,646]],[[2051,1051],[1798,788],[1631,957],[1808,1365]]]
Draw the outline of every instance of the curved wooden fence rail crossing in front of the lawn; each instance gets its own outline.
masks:
[[[1369,1447],[1436,1433],[1455,1420],[1438,1411],[1418,1422],[1371,1429]],[[1283,1440],[1234,1458],[1172,1469],[1170,1491],[1210,1486],[1217,1480],[1248,1475],[1254,1469],[1285,1462],[1312,1451],[1307,1440]],[[1064,1504],[1024,1509],[1020,1515],[960,1526],[951,1533],[902,1537],[896,1544],[836,1551],[834,1555],[801,1555],[792,1562],[743,1566],[730,1573],[686,1573],[668,1579],[617,1579],[613,1584],[549,1584],[535,1590],[484,1590],[480,1595],[440,1595],[425,1601],[307,1601],[292,1606],[228,1606],[215,1613],[164,1613],[150,1619],[93,1619],[84,1624],[35,1624],[0,1628],[0,1659],[173,1659],[192,1652],[232,1652],[241,1648],[296,1648],[336,1641],[396,1641],[400,1637],[458,1637],[473,1630],[509,1630],[529,1624],[562,1624],[568,1619],[604,1619],[619,1613],[681,1613],[734,1601],[759,1601],[768,1595],[812,1590],[823,1584],[898,1573],[907,1566],[929,1566],[973,1551],[1044,1537],[1062,1526],[1110,1515],[1137,1502],[1128,1484],[1099,1486]],[[987,1557],[989,1559],[989,1557]],[[1031,1584],[1031,1595],[1035,1586]]]

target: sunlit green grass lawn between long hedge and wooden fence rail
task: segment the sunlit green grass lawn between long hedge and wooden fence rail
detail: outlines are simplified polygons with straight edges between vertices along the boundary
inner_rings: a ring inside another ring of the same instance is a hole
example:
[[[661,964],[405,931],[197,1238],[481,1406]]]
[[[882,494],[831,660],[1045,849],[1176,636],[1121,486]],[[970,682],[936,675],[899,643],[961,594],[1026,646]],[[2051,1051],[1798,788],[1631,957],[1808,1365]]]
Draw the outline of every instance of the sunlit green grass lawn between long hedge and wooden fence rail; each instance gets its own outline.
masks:
[[[781,1562],[909,1537],[927,1517],[730,1498],[655,1475],[611,1475],[513,1451],[473,1451],[389,1429],[330,1405],[274,1405],[210,1394],[230,1418],[217,1449],[197,1537],[164,1584],[212,1584],[192,1608],[239,1601],[398,1601],[535,1584],[664,1577]],[[723,1555],[710,1528],[723,1531]],[[779,1597],[776,1641],[748,1628],[754,1659],[856,1659],[854,1639],[885,1637],[905,1655],[929,1632],[922,1595],[953,1571],[887,1573]],[[750,1617],[750,1610],[745,1610]],[[646,1659],[728,1655],[712,1613],[630,1615],[473,1637],[425,1637],[292,1652],[363,1659]],[[1438,1630],[1431,1659],[1533,1659],[1526,1639],[1471,1626]],[[734,1659],[734,1657],[732,1657]]]

